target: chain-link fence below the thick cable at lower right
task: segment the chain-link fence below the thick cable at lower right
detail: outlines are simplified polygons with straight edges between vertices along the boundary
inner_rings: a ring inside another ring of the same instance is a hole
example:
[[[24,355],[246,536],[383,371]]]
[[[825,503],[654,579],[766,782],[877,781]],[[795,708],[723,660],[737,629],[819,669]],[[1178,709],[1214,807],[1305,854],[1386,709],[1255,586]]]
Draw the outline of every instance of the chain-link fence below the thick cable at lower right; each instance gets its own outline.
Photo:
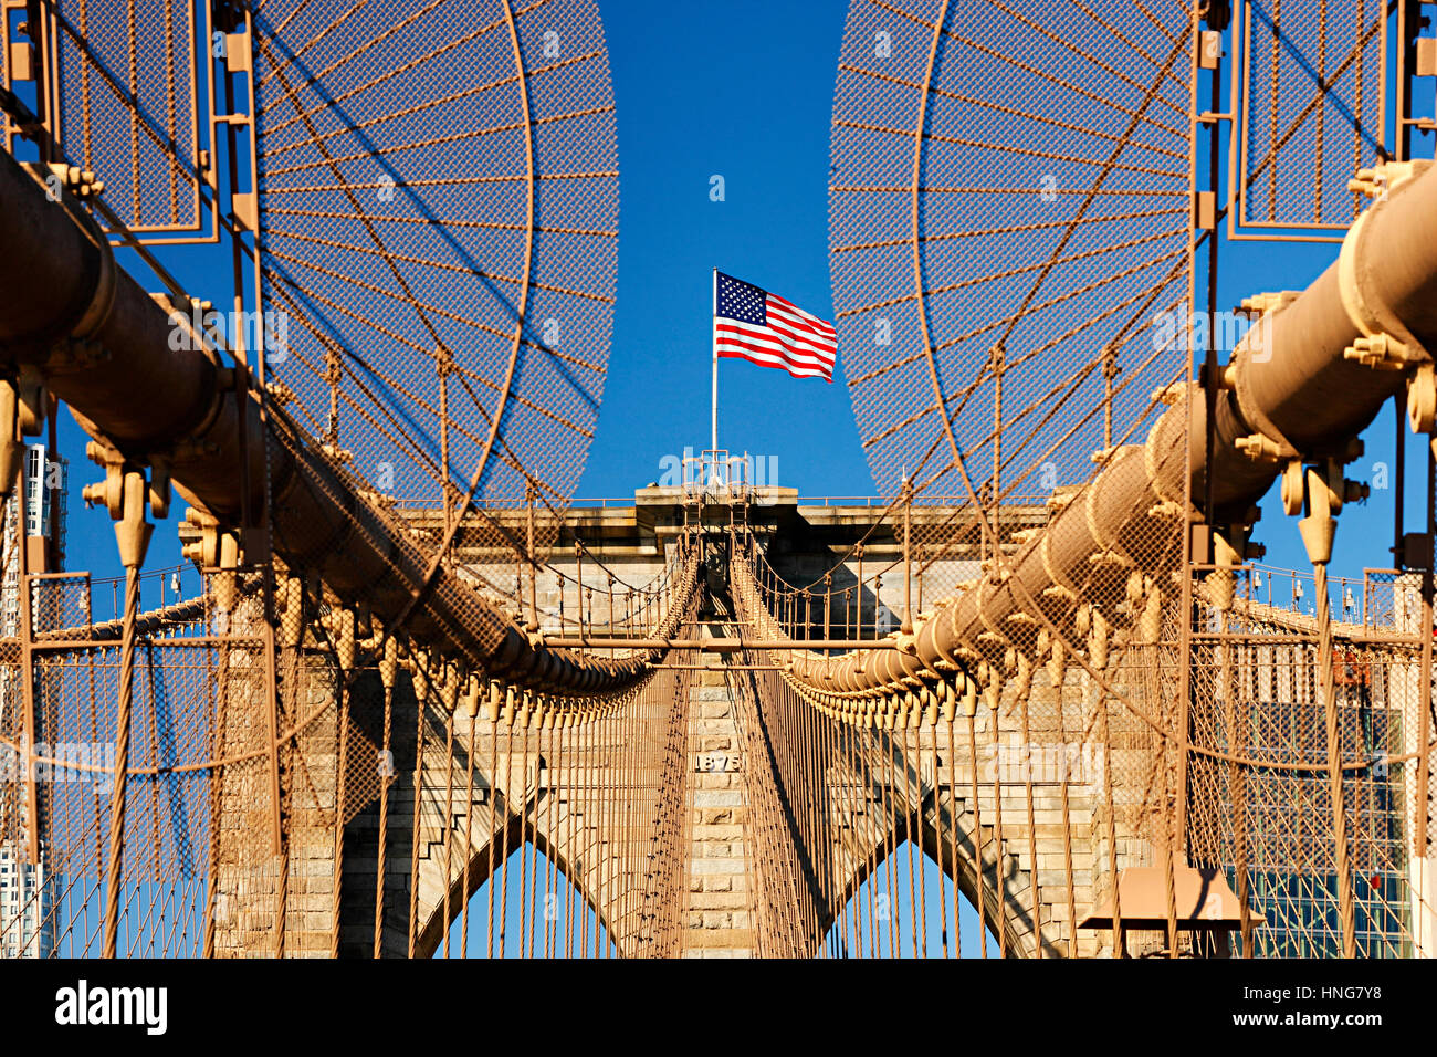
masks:
[[[1415,595],[1420,578],[1369,572],[1365,581],[1387,598],[1367,611],[1354,604],[1364,581],[1329,587],[1341,828],[1319,628],[1302,603],[1313,585],[1279,569],[1249,574],[1230,611],[1207,611],[1196,626],[1191,854],[1224,869],[1263,915],[1252,938],[1259,956],[1342,953],[1339,840],[1359,956],[1410,956],[1414,919],[1431,913],[1411,861],[1426,815],[1417,805],[1421,637],[1415,611],[1397,618],[1391,603],[1404,590]],[[1262,598],[1273,581],[1280,604]]]

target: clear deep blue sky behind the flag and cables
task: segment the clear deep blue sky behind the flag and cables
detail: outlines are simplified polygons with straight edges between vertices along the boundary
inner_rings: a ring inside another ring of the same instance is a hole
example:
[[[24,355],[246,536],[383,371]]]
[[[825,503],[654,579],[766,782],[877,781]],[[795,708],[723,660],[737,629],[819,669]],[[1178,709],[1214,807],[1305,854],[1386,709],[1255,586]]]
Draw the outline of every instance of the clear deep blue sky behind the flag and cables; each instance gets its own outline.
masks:
[[[846,4],[838,0],[726,0],[674,4],[601,0],[614,76],[621,165],[619,282],[602,411],[579,496],[631,496],[661,475],[665,456],[708,440],[711,269],[766,286],[832,318],[828,270],[829,121]],[[1420,152],[1431,152],[1418,139]],[[710,198],[711,178],[724,200]],[[1298,289],[1336,256],[1335,244],[1224,240],[1219,306],[1249,293]],[[170,255],[181,280],[221,302],[224,255]],[[844,351],[839,349],[839,374]],[[846,385],[795,380],[743,361],[720,364],[720,444],[775,456],[777,483],[808,496],[869,495],[872,477]],[[82,450],[69,416],[62,449]],[[1392,459],[1390,408],[1369,430],[1361,479]],[[1408,439],[1410,463],[1421,454]],[[108,519],[85,512],[75,462],[72,568],[114,575]],[[1411,477],[1417,483],[1415,475]],[[1385,567],[1391,492],[1341,518],[1335,572]],[[178,511],[177,503],[177,513]],[[1418,489],[1408,489],[1408,528]],[[1256,538],[1269,562],[1305,567],[1296,526],[1270,493]],[[178,561],[172,522],[155,534],[151,565]]]

